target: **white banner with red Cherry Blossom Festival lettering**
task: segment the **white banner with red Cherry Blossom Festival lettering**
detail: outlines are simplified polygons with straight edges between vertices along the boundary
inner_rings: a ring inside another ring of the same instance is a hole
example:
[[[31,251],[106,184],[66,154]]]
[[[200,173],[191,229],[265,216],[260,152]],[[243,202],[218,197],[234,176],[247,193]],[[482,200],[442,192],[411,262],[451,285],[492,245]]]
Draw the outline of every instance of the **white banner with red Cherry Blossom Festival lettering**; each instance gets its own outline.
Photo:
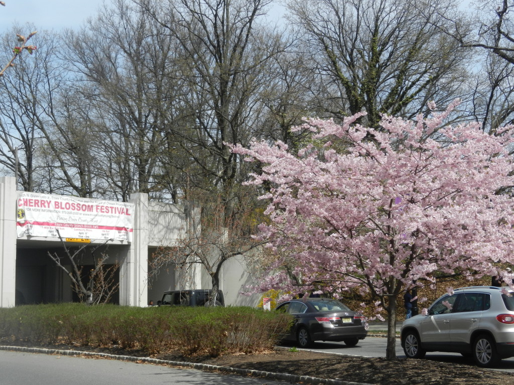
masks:
[[[18,192],[17,236],[132,241],[134,203]]]

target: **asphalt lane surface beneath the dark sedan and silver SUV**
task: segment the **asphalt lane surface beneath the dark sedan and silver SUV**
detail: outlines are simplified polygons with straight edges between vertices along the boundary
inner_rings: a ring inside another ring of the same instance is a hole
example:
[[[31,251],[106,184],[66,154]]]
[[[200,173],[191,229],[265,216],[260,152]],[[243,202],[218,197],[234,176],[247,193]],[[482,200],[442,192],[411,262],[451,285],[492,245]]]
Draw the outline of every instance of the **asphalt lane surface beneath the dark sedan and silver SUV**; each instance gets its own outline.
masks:
[[[314,346],[308,350],[335,353],[361,357],[386,357],[387,338],[366,337],[359,341],[354,347],[347,347],[344,342],[315,342]],[[396,356],[405,357],[399,339],[396,340]],[[464,358],[456,353],[427,353],[425,359],[437,360],[441,362],[454,362],[459,364],[472,364],[470,359]],[[514,357],[502,360],[497,370],[514,373]]]

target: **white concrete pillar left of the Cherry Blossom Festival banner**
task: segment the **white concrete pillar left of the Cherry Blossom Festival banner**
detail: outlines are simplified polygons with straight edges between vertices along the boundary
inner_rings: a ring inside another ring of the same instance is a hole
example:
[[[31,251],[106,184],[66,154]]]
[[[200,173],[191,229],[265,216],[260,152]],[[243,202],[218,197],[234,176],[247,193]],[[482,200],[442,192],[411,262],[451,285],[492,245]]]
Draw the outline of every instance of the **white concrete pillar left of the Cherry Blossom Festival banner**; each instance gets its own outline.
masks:
[[[0,307],[16,297],[16,198],[16,179],[0,178]]]

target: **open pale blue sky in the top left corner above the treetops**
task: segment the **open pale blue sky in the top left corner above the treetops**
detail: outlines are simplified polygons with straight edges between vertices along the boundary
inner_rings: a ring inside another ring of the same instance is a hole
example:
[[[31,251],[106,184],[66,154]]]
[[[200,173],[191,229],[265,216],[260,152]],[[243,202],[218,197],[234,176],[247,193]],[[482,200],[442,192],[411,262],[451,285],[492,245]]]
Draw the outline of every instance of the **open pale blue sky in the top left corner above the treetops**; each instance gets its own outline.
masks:
[[[38,29],[76,28],[97,13],[104,0],[3,0],[0,7],[0,30],[14,22],[29,22]],[[108,0],[107,0],[108,2]]]

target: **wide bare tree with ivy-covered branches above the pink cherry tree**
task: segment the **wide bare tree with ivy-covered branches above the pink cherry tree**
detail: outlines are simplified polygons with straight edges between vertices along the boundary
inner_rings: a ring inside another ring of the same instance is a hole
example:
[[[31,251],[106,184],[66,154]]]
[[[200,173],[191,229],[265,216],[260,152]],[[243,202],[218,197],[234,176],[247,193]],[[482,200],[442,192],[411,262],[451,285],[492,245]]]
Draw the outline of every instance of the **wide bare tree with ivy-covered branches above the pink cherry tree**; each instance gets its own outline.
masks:
[[[320,109],[338,118],[364,110],[376,126],[381,113],[413,118],[427,102],[447,105],[459,94],[466,50],[445,38],[444,17],[424,20],[420,7],[443,15],[455,9],[441,0],[288,3],[291,22],[303,31],[304,54],[326,90]]]

